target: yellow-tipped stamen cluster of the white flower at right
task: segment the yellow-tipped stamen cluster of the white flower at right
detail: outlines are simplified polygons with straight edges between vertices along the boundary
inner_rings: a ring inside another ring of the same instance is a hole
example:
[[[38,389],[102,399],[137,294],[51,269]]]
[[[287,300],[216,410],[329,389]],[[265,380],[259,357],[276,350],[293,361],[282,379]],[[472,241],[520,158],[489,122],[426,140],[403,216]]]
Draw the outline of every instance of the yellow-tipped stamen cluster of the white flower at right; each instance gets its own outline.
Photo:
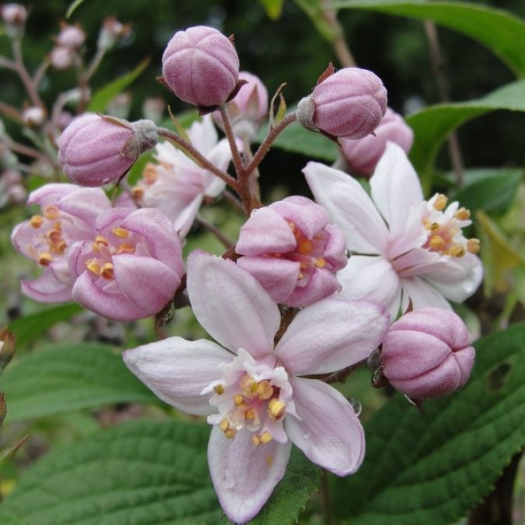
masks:
[[[438,193],[427,202],[423,212],[423,226],[427,230],[427,241],[423,248],[440,255],[463,257],[466,253],[478,253],[477,238],[465,238],[462,228],[472,223],[471,212],[459,208],[454,202],[447,207],[447,197]]]

